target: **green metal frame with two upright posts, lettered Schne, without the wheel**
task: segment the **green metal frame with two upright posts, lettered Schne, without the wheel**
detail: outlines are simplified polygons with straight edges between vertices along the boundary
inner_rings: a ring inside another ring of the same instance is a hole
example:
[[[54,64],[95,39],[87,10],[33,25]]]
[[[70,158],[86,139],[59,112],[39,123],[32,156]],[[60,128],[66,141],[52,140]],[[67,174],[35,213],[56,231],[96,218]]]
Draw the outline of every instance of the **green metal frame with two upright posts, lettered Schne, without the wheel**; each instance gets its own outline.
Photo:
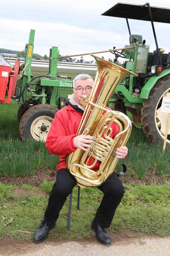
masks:
[[[32,62],[32,55],[34,49],[34,35],[35,30],[31,29],[28,44],[26,44],[25,51],[26,51],[26,59],[24,64],[24,70],[20,74],[20,77],[17,81],[17,87],[15,96],[19,96],[27,84],[31,81],[33,76],[31,75],[31,62]],[[46,76],[51,76],[52,78],[44,77],[44,78],[37,78],[34,80],[37,83],[35,90],[30,91],[31,97],[39,102],[39,104],[50,104],[57,108],[60,108],[59,96],[61,88],[71,88],[72,87],[72,80],[61,80],[57,78],[57,63],[58,63],[59,51],[58,47],[52,47],[50,49],[49,54],[49,70]],[[51,88],[53,90],[51,90]],[[47,102],[47,93],[50,92],[50,100]],[[24,91],[23,96],[20,97],[19,103],[25,104],[27,99],[28,92],[27,90]]]

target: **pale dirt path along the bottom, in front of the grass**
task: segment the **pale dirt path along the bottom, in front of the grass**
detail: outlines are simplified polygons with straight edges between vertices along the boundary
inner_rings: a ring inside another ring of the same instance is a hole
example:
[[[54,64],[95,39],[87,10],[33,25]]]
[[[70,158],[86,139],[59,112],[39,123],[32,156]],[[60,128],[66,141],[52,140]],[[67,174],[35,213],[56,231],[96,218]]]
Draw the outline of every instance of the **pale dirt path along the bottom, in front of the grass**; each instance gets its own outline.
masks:
[[[110,246],[99,244],[95,236],[80,241],[47,239],[39,244],[0,239],[0,256],[170,256],[170,236],[110,235]]]

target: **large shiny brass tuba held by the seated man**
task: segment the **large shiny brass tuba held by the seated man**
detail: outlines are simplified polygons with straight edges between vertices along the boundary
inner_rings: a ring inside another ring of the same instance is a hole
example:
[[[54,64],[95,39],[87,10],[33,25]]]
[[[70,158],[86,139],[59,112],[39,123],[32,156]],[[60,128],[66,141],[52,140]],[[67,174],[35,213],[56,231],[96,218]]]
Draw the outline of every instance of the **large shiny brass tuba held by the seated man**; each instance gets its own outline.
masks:
[[[100,186],[108,179],[119,160],[115,156],[116,148],[126,145],[132,127],[125,114],[108,110],[105,106],[119,82],[125,76],[136,74],[110,61],[91,56],[96,59],[97,73],[89,99],[85,96],[82,99],[86,107],[77,134],[89,134],[94,137],[94,142],[87,152],[77,148],[67,159],[67,167],[80,187]],[[113,122],[119,125],[119,134],[114,139],[110,137]],[[94,163],[89,166],[91,157]],[[97,162],[100,163],[99,169],[94,171]]]

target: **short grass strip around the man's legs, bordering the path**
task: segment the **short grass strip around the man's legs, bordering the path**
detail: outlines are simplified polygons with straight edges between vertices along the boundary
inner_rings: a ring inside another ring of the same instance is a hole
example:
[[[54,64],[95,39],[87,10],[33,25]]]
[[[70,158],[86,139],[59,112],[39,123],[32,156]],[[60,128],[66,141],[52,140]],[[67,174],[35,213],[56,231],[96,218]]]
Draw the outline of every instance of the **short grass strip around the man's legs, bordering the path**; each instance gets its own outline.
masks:
[[[21,186],[24,189],[35,189]],[[50,191],[52,183],[42,185]],[[12,193],[16,186],[0,184],[0,238],[30,240],[35,228],[43,218],[48,196],[28,195],[18,197]],[[170,235],[170,183],[164,185],[125,185],[125,195],[119,205],[109,230],[118,233],[129,229],[141,233],[155,233],[159,236]],[[50,236],[65,239],[89,238],[91,220],[94,218],[102,192],[96,188],[81,189],[80,210],[77,210],[77,188],[73,191],[71,229],[67,230],[68,200],[66,201],[56,227]],[[88,211],[87,211],[88,209]],[[21,233],[18,230],[26,231]]]

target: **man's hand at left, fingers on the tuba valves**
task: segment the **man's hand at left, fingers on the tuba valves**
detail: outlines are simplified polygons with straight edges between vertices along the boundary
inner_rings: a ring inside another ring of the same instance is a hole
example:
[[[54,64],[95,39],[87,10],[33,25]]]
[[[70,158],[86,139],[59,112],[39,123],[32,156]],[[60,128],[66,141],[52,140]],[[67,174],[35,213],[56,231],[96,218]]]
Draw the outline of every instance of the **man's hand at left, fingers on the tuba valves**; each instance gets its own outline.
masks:
[[[76,148],[80,148],[84,151],[88,151],[88,148],[91,147],[93,142],[93,137],[90,135],[79,135],[74,137],[73,143]]]

